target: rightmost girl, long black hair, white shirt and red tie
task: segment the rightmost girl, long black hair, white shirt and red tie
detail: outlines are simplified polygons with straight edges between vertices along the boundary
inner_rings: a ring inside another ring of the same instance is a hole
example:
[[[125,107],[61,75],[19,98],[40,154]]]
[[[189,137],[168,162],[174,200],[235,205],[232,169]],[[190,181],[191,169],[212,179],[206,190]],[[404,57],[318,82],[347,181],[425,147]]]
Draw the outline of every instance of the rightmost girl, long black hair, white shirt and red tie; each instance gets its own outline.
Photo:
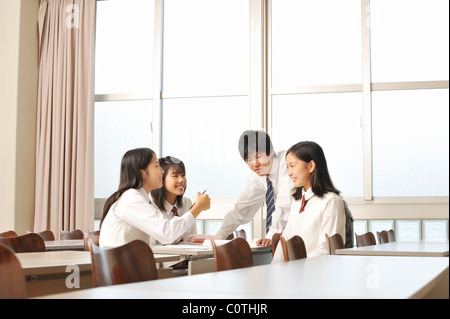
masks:
[[[338,233],[345,238],[343,199],[331,181],[325,155],[317,143],[297,143],[286,154],[288,175],[295,191],[282,235],[286,240],[299,235],[308,257],[326,255],[325,234]],[[283,260],[282,249],[277,247],[273,262]]]

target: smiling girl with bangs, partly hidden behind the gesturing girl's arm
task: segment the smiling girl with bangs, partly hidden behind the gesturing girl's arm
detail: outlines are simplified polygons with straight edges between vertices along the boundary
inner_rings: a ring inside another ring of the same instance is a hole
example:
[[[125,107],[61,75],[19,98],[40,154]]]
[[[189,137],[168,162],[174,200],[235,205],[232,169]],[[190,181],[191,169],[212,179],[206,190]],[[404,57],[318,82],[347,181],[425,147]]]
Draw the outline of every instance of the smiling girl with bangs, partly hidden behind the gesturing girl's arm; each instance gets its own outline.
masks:
[[[152,199],[167,220],[173,217],[183,216],[189,212],[192,201],[183,197],[186,192],[186,168],[184,163],[172,156],[159,159],[159,166],[164,170],[162,176],[163,187],[152,190]],[[194,223],[182,237],[177,238],[175,243],[180,241],[188,242],[189,236],[197,234],[197,226]]]

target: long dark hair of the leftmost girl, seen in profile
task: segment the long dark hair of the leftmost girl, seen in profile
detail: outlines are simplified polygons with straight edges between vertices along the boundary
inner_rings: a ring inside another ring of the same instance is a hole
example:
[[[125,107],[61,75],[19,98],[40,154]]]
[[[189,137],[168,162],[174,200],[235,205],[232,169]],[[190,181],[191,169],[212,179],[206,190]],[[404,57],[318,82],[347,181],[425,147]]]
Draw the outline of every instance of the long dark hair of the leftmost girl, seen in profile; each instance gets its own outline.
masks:
[[[122,157],[120,164],[120,182],[119,189],[112,194],[103,205],[103,215],[100,221],[100,227],[109,212],[111,206],[130,188],[141,188],[143,184],[141,169],[145,170],[153,159],[155,152],[149,148],[136,148],[129,150]]]

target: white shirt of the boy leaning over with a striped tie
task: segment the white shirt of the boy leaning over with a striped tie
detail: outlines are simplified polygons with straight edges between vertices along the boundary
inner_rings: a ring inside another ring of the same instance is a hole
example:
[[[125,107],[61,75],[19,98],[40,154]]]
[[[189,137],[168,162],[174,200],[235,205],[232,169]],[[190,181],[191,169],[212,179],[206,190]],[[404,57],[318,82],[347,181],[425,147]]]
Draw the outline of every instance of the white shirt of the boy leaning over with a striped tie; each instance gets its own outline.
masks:
[[[225,215],[217,236],[226,238],[239,225],[246,224],[253,219],[261,205],[266,201],[267,177],[272,182],[275,211],[272,213],[272,224],[266,238],[272,238],[273,234],[283,231],[289,216],[291,195],[294,189],[292,180],[287,174],[286,151],[278,152],[277,157],[272,158],[272,166],[268,176],[259,176],[254,171],[250,171],[244,189],[233,208]]]

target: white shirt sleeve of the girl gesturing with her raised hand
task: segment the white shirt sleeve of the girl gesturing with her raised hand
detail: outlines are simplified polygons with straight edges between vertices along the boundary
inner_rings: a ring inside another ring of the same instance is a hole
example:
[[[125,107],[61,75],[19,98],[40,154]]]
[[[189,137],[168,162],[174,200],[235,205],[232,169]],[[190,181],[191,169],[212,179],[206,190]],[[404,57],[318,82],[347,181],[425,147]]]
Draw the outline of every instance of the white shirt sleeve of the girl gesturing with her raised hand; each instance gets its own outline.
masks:
[[[117,217],[147,233],[162,244],[173,243],[183,236],[193,223],[194,216],[187,212],[170,220],[159,217],[157,208],[152,206],[141,194],[126,194],[116,207]]]

